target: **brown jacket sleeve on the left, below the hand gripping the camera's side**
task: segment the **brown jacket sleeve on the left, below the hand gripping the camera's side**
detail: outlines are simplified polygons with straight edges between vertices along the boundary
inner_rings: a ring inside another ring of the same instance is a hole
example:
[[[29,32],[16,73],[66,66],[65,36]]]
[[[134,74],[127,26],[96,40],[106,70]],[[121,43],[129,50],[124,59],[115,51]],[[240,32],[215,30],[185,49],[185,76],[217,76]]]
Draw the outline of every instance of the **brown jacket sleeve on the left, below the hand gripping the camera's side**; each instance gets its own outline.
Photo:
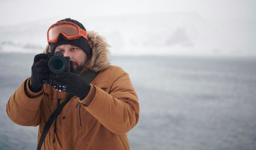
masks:
[[[43,99],[43,88],[34,93],[29,89],[30,77],[10,96],[6,104],[9,118],[21,126],[37,126],[40,122],[40,102]]]

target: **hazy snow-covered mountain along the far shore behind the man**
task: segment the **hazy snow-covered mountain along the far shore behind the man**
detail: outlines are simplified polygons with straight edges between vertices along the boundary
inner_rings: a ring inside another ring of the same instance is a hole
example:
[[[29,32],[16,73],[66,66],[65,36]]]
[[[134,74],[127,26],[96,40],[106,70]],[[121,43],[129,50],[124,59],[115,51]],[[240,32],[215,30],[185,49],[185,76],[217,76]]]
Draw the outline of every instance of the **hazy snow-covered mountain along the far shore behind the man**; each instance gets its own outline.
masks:
[[[0,51],[42,52],[48,27],[61,19],[0,27]],[[78,21],[104,36],[113,55],[256,56],[256,21],[251,20],[210,20],[194,12],[173,12]]]

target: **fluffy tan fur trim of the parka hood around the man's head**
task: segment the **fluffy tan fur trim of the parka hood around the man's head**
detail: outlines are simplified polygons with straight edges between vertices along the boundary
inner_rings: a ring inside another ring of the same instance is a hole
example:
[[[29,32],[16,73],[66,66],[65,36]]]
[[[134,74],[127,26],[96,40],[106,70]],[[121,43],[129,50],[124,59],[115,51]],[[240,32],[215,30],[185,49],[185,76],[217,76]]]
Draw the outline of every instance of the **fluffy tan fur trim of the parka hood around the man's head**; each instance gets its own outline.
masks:
[[[88,31],[87,32],[88,43],[90,48],[92,49],[92,57],[84,66],[84,69],[81,71],[84,72],[85,68],[89,66],[89,68],[95,72],[102,71],[106,69],[110,65],[109,60],[109,47],[106,39],[99,35],[97,32]],[[48,53],[50,49],[50,45],[46,45],[46,49],[43,53]],[[88,65],[89,63],[89,65]]]

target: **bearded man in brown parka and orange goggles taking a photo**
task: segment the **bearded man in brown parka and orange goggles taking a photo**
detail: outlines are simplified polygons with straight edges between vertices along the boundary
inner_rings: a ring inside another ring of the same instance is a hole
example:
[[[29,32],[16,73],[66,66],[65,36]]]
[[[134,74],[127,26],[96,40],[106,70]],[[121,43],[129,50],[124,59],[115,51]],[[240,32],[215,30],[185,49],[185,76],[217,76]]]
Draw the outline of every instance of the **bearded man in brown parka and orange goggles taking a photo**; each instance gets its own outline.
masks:
[[[72,27],[81,32],[68,35]],[[87,33],[70,18],[51,26],[47,37],[49,45],[35,56],[31,77],[6,105],[9,118],[21,126],[39,125],[39,141],[53,111],[72,94],[49,129],[42,150],[129,150],[127,132],[139,119],[138,97],[128,73],[110,65],[104,38]],[[49,71],[46,59],[56,51],[70,57],[70,72],[55,75]],[[81,76],[88,69],[100,72],[90,84]],[[46,79],[50,84],[43,84]]]

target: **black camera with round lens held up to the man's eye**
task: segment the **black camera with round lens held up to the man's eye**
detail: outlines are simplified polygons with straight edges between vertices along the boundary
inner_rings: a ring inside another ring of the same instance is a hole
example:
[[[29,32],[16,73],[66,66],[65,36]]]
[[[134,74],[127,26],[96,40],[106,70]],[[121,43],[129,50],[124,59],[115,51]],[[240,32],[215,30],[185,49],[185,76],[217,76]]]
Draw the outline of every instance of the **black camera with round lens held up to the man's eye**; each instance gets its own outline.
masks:
[[[48,60],[49,70],[54,74],[70,72],[70,57],[64,57],[61,51],[49,54]],[[43,80],[44,84],[49,84],[49,79]]]

